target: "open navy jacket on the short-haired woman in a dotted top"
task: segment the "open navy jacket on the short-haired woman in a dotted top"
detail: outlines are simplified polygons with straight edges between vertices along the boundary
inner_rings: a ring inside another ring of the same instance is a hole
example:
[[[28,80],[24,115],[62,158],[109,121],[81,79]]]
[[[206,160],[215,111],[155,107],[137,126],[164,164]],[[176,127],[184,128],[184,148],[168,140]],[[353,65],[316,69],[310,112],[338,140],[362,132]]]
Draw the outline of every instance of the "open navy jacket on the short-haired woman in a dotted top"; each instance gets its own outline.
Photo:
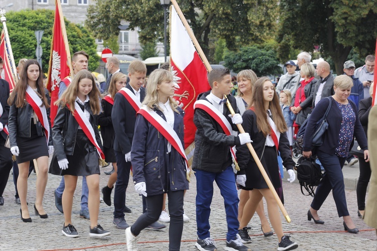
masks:
[[[324,136],[323,144],[322,146],[318,147],[318,150],[328,153],[328,154],[335,154],[335,149],[338,147],[338,141],[339,141],[339,132],[341,128],[341,122],[342,122],[342,113],[338,107],[338,104],[334,100],[333,97],[331,97],[331,108],[329,110],[329,113],[327,115],[327,122],[329,123],[329,127],[327,128],[327,131]],[[356,116],[355,121],[355,129],[353,131],[353,136],[356,137],[357,143],[361,147],[362,150],[367,150],[367,141],[365,137],[364,130],[361,127],[361,123],[359,120],[358,115],[358,109],[356,107],[356,104],[348,99],[348,102],[351,104],[353,112]],[[321,99],[318,104],[314,107],[312,114],[309,116],[308,124],[305,129],[305,135],[304,135],[304,147],[303,151],[312,151],[312,137],[315,131],[315,126],[317,121],[320,121],[323,117],[323,115],[326,112],[327,107],[329,106],[329,99],[324,98]],[[353,143],[350,146],[350,149],[352,148]]]

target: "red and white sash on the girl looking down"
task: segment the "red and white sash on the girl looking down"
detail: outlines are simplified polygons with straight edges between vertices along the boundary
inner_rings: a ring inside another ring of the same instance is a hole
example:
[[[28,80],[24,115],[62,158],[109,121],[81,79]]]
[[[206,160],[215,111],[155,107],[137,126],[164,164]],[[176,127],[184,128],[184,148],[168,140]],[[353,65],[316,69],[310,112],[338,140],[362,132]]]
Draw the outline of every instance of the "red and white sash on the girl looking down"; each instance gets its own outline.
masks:
[[[67,107],[69,109],[68,104],[67,104]],[[81,107],[78,105],[77,102],[74,102],[74,112],[72,112],[72,115],[76,119],[78,125],[81,127],[82,132],[84,132],[84,134],[89,139],[91,144],[93,144],[96,147],[97,153],[98,153],[98,156],[100,157],[100,159],[105,160],[105,155],[104,155],[100,146],[97,143],[94,130],[91,127],[89,120],[86,118],[84,112],[81,110]]]

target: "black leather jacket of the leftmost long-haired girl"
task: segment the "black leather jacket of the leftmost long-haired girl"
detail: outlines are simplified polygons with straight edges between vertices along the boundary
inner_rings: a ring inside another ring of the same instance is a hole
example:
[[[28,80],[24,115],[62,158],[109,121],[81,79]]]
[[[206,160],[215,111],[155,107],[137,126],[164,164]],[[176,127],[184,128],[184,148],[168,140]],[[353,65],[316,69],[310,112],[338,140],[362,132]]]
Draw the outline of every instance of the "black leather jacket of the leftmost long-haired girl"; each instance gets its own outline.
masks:
[[[48,90],[45,89],[45,95],[47,97],[47,101],[50,102]],[[26,101],[25,101],[26,102]],[[47,118],[48,118],[48,124],[50,126],[50,139],[48,142],[49,146],[53,145],[52,137],[51,137],[51,122],[50,122],[50,108],[46,108],[47,112]],[[32,116],[33,116],[33,107],[26,103],[24,107],[17,108],[15,104],[11,105],[10,111],[9,111],[9,120],[8,120],[8,131],[9,131],[9,140],[11,147],[17,146],[16,138],[24,137],[24,138],[30,138],[31,134],[31,123],[32,123]],[[36,123],[37,133],[38,136],[44,136],[45,131],[42,127],[42,124],[40,121],[37,121]]]

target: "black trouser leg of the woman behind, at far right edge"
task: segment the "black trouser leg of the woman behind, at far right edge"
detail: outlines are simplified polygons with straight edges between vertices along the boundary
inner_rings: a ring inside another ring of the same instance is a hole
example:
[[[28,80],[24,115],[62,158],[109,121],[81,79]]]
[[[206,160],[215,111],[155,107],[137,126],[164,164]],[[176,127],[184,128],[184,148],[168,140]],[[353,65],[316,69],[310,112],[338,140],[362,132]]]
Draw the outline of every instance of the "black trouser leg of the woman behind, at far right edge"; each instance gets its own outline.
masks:
[[[356,186],[357,208],[365,210],[366,188],[370,180],[370,162],[365,162],[364,158],[359,158],[360,176]]]

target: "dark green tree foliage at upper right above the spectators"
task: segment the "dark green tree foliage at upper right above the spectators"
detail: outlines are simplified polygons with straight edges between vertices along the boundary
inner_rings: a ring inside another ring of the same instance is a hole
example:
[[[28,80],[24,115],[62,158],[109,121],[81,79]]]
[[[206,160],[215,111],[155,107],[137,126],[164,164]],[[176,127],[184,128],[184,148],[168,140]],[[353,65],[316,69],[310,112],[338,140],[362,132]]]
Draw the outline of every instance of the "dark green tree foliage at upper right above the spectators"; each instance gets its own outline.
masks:
[[[352,48],[371,54],[377,36],[376,1],[281,0],[278,42],[279,58],[289,46],[308,52],[320,46],[323,57],[334,61],[337,74]]]

